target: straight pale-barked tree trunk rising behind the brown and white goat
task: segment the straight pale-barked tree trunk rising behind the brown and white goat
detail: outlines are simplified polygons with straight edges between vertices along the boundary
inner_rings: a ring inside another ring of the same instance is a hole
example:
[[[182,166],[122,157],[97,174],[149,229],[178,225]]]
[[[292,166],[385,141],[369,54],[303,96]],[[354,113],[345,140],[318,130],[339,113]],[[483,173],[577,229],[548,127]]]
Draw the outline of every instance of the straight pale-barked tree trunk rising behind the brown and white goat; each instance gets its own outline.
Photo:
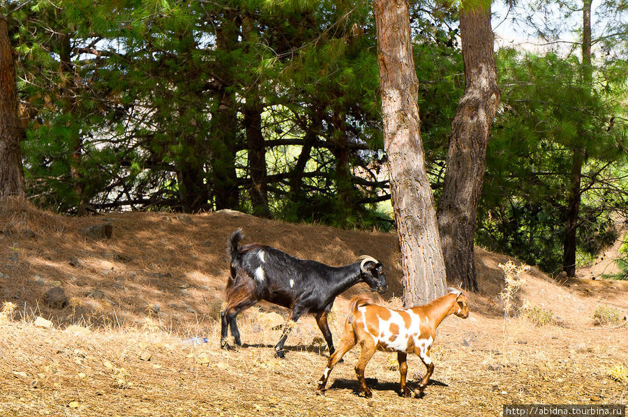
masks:
[[[403,304],[426,303],[446,289],[445,268],[419,130],[418,81],[406,0],[373,0],[384,150],[401,245]]]

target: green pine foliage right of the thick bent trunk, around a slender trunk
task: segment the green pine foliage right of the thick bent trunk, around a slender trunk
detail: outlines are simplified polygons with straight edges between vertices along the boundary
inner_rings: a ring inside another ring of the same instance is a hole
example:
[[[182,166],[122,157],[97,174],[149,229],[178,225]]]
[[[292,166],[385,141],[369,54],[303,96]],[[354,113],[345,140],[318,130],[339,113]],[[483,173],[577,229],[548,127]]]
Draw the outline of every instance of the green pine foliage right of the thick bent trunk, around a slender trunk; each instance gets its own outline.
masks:
[[[488,144],[477,241],[544,271],[562,266],[574,149],[584,149],[577,234],[581,259],[618,236],[614,213],[625,201],[618,181],[626,152],[625,123],[615,94],[583,85],[573,57],[502,50],[502,110]],[[618,79],[605,79],[618,86]],[[613,87],[615,88],[615,87]],[[625,181],[625,180],[620,180]]]

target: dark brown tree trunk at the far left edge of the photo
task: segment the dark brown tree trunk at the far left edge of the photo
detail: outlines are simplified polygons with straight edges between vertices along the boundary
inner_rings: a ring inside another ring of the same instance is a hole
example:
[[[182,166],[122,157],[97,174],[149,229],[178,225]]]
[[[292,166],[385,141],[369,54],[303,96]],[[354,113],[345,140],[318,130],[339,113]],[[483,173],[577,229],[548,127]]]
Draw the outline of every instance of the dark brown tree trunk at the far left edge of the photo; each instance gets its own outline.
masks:
[[[13,50],[6,20],[0,15],[0,198],[26,195],[20,148],[23,137],[24,130],[17,114]]]

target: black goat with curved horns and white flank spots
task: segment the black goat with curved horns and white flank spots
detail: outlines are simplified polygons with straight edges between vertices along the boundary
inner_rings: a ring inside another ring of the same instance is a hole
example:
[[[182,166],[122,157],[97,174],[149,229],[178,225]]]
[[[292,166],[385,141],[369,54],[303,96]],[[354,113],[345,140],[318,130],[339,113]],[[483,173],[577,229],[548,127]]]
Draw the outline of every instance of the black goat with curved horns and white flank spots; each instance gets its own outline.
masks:
[[[242,238],[242,229],[237,229],[227,241],[231,276],[225,290],[227,305],[220,312],[220,347],[223,349],[230,349],[227,344],[230,326],[235,344],[242,344],[236,323],[239,312],[266,300],[290,308],[292,321],[306,313],[314,314],[329,354],[333,354],[327,314],[336,296],[358,282],[366,282],[373,291],[380,293],[388,288],[382,264],[373,257],[360,257],[354,264],[334,268],[317,261],[297,259],[258,243],[239,246]],[[276,355],[280,358],[285,356],[283,344],[290,329],[290,326],[283,326],[281,339],[275,345]]]

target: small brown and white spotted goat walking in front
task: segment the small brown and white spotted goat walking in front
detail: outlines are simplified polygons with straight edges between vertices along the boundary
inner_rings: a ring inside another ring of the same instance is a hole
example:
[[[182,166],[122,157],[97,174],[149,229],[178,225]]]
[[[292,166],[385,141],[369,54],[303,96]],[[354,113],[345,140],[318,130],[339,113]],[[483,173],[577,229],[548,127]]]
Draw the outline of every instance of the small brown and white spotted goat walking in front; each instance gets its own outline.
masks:
[[[345,322],[345,330],[338,350],[329,357],[327,368],[318,382],[318,391],[323,391],[329,373],[347,351],[360,344],[360,358],[355,365],[359,392],[366,397],[373,394],[366,386],[364,368],[376,350],[396,351],[401,374],[401,395],[412,395],[405,383],[408,374],[408,354],[414,352],[425,364],[427,372],[419,382],[419,393],[423,393],[434,371],[430,358],[430,347],[436,337],[436,328],[449,314],[466,319],[469,317],[468,298],[459,289],[448,288],[449,294],[436,298],[431,303],[407,310],[391,310],[373,303],[371,298],[357,296],[352,299]]]

